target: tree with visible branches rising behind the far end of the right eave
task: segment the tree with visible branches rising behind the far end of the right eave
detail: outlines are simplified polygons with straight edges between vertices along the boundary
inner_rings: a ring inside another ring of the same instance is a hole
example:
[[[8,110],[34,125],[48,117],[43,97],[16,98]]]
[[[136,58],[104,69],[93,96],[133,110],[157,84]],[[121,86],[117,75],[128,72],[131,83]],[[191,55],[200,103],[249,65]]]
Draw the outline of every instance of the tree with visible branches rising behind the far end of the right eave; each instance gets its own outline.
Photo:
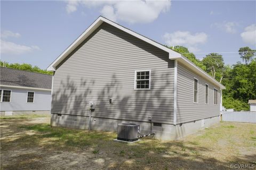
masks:
[[[206,67],[206,72],[214,79],[221,82],[224,70],[224,62],[222,55],[218,53],[210,53],[202,60],[203,65]]]

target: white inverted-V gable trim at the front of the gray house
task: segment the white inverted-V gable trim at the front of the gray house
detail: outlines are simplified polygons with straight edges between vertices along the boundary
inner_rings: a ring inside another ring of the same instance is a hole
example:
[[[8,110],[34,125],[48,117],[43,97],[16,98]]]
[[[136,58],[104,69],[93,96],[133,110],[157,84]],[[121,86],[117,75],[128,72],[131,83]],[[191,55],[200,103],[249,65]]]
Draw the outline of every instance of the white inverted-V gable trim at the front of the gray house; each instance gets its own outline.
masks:
[[[102,16],[100,16],[97,20],[95,20],[89,28],[87,28],[81,36],[79,36],[49,67],[47,67],[47,71],[55,71],[56,66],[58,64],[60,64],[60,62],[62,60],[64,60],[64,58],[66,58],[78,45],[80,45],[88,36],[91,35],[91,33],[97,29],[103,22],[106,22],[110,25],[113,25],[113,27],[116,27],[124,32],[129,33],[130,35],[137,37],[143,41],[146,41],[147,43],[156,46],[162,50],[164,50],[165,52],[169,53],[170,57],[181,57],[180,53],[174,52],[172,49],[167,48],[161,44],[156,43],[156,41],[153,41],[147,37],[144,37],[142,35],[140,35],[139,33],[133,32],[132,30],[129,30],[113,21],[110,21],[106,18],[103,18]]]

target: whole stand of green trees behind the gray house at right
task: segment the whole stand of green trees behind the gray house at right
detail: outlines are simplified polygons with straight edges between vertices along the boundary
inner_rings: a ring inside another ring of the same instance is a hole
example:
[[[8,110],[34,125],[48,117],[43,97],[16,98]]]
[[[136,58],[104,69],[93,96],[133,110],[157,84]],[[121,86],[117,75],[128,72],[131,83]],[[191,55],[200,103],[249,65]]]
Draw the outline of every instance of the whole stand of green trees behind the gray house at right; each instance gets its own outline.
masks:
[[[201,62],[186,47],[175,46],[174,50],[187,57],[226,87],[222,91],[223,106],[234,108],[236,111],[249,110],[248,100],[256,99],[255,50],[252,51],[249,47],[240,48],[239,54],[245,64],[238,62],[232,66],[225,65],[222,55],[217,53],[206,55]]]

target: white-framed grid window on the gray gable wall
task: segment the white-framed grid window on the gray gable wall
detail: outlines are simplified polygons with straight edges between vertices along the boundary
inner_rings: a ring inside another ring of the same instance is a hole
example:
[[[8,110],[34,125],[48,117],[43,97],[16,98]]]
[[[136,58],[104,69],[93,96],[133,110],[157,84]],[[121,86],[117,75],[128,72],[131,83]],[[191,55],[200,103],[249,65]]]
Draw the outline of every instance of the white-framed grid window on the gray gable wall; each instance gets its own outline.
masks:
[[[134,89],[150,89],[150,70],[135,71]]]

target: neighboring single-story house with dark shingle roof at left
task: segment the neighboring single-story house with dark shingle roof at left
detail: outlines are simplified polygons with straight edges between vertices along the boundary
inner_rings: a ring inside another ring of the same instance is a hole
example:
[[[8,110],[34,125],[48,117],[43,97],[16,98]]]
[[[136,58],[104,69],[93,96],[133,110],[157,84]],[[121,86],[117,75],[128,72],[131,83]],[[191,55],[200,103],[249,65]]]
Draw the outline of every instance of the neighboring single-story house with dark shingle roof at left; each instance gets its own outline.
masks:
[[[52,75],[1,67],[2,115],[50,114]]]

